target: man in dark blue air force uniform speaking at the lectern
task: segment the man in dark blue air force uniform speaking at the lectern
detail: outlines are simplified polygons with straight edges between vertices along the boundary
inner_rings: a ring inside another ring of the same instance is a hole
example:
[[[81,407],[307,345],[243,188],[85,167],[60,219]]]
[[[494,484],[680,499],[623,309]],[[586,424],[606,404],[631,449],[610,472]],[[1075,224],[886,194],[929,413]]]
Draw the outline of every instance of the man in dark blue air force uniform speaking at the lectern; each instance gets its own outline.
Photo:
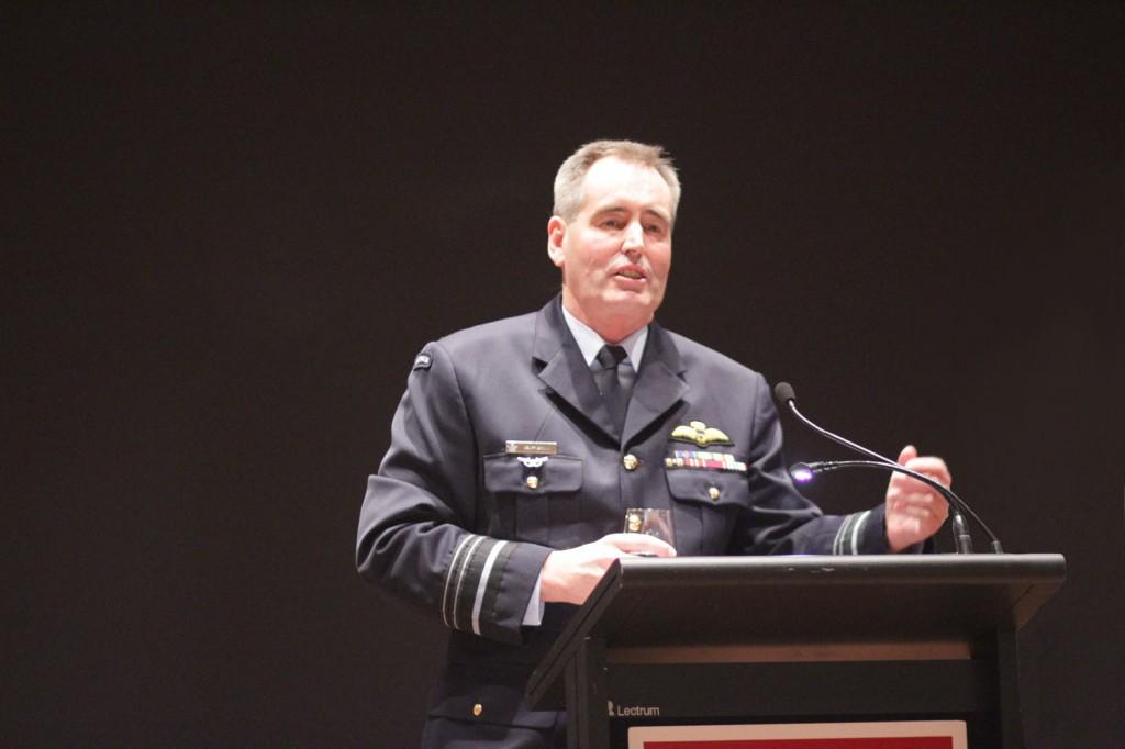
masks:
[[[680,182],[658,146],[586,144],[555,180],[562,292],[414,361],[359,522],[360,572],[450,628],[423,746],[561,747],[528,677],[616,558],[917,549],[945,500],[894,473],[826,516],[792,486],[760,374],[662,328]],[[939,458],[899,462],[948,485]],[[622,532],[670,509],[675,548]],[[458,743],[461,742],[461,743]]]

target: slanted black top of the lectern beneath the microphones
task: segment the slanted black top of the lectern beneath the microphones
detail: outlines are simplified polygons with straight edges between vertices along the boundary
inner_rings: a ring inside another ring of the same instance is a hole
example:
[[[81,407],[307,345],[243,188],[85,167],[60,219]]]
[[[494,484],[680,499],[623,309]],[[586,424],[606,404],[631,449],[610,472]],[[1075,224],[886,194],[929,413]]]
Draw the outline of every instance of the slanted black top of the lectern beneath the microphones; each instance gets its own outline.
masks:
[[[960,642],[1015,631],[1065,577],[1060,554],[627,558],[532,675],[542,693],[577,643],[608,648]]]

